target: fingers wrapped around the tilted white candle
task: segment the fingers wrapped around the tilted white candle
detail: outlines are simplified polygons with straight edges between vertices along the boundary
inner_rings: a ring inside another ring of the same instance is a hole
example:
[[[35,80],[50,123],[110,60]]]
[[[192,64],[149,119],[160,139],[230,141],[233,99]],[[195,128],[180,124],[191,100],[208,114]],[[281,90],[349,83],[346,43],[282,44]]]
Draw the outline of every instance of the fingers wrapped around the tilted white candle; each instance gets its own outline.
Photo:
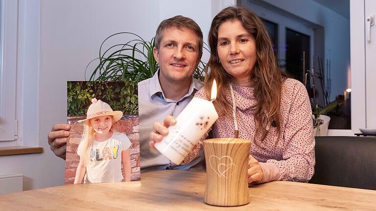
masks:
[[[156,142],[161,142],[163,137],[168,135],[167,127],[173,126],[175,124],[176,124],[176,118],[173,116],[164,117],[163,124],[159,122],[155,122],[153,124],[154,131],[150,132],[149,134],[149,138],[150,138],[149,146],[151,148],[155,148],[154,144]]]

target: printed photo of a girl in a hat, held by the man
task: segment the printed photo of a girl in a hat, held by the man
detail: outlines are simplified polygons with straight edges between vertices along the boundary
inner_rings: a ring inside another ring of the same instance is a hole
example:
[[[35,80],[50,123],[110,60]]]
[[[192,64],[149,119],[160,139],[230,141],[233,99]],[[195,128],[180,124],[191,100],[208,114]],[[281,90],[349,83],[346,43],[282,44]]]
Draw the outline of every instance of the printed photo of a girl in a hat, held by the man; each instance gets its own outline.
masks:
[[[140,180],[137,90],[127,85],[68,82],[66,184]]]

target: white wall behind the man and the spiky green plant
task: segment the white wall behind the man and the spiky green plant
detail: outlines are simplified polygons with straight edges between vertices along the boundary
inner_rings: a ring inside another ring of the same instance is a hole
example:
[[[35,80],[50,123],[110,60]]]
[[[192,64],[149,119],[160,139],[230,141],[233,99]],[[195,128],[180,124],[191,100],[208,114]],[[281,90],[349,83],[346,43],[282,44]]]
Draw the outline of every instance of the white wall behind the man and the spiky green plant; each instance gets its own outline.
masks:
[[[83,81],[86,65],[111,34],[134,32],[151,40],[160,21],[184,15],[197,21],[207,40],[211,18],[235,0],[19,0],[22,143],[42,154],[0,157],[0,174],[24,174],[24,190],[64,184],[64,160],[54,156],[47,133],[66,122],[66,83]],[[23,16],[21,16],[23,17]],[[27,17],[27,16],[26,16]],[[35,20],[36,19],[36,20]],[[39,21],[38,21],[39,19]],[[29,20],[29,21],[27,21]],[[113,42],[124,42],[117,38]],[[38,44],[39,43],[39,44]],[[208,58],[206,56],[206,58]],[[87,78],[90,74],[87,74]]]

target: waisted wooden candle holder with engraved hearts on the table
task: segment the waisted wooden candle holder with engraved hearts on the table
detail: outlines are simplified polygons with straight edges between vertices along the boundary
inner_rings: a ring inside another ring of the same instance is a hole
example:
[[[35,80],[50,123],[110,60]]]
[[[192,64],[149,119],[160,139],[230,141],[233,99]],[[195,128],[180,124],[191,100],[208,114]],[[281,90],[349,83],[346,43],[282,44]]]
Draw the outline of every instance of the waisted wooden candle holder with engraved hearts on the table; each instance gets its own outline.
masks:
[[[247,170],[251,141],[217,138],[203,143],[207,175],[205,203],[223,207],[248,204]]]

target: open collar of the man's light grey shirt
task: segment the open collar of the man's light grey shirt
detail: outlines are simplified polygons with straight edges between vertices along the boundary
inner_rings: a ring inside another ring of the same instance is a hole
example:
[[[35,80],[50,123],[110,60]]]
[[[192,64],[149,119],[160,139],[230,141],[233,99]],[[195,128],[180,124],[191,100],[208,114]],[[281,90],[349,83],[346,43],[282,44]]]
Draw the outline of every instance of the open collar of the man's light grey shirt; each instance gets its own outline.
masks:
[[[150,97],[152,98],[152,97],[155,97],[155,96],[160,96],[163,99],[165,99],[163,91],[162,91],[161,84],[159,83],[158,74],[159,74],[159,70],[157,70],[155,72],[154,76],[150,79],[150,85],[149,85]],[[196,91],[198,91],[201,88],[201,86],[202,86],[202,82],[200,82],[197,79],[194,79],[193,76],[192,76],[192,80],[191,80],[190,85],[189,85],[188,93],[182,99],[184,99],[187,96],[194,94]]]

